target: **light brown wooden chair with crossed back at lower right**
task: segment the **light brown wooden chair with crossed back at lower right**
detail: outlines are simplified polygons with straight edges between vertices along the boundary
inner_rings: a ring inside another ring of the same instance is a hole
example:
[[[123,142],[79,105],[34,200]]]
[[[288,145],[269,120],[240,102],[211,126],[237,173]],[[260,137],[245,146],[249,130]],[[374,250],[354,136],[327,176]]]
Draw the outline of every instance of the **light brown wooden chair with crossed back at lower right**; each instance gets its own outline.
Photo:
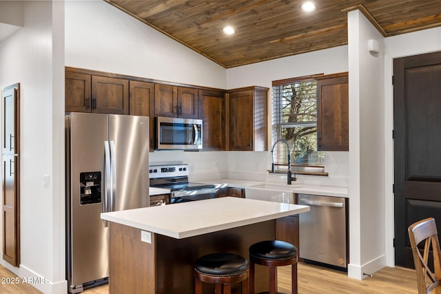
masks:
[[[416,269],[418,294],[427,294],[436,288],[436,294],[441,294],[441,251],[435,219],[426,218],[409,226],[413,262]],[[421,255],[418,244],[424,241],[424,251]],[[429,251],[433,253],[434,273],[429,269]]]

